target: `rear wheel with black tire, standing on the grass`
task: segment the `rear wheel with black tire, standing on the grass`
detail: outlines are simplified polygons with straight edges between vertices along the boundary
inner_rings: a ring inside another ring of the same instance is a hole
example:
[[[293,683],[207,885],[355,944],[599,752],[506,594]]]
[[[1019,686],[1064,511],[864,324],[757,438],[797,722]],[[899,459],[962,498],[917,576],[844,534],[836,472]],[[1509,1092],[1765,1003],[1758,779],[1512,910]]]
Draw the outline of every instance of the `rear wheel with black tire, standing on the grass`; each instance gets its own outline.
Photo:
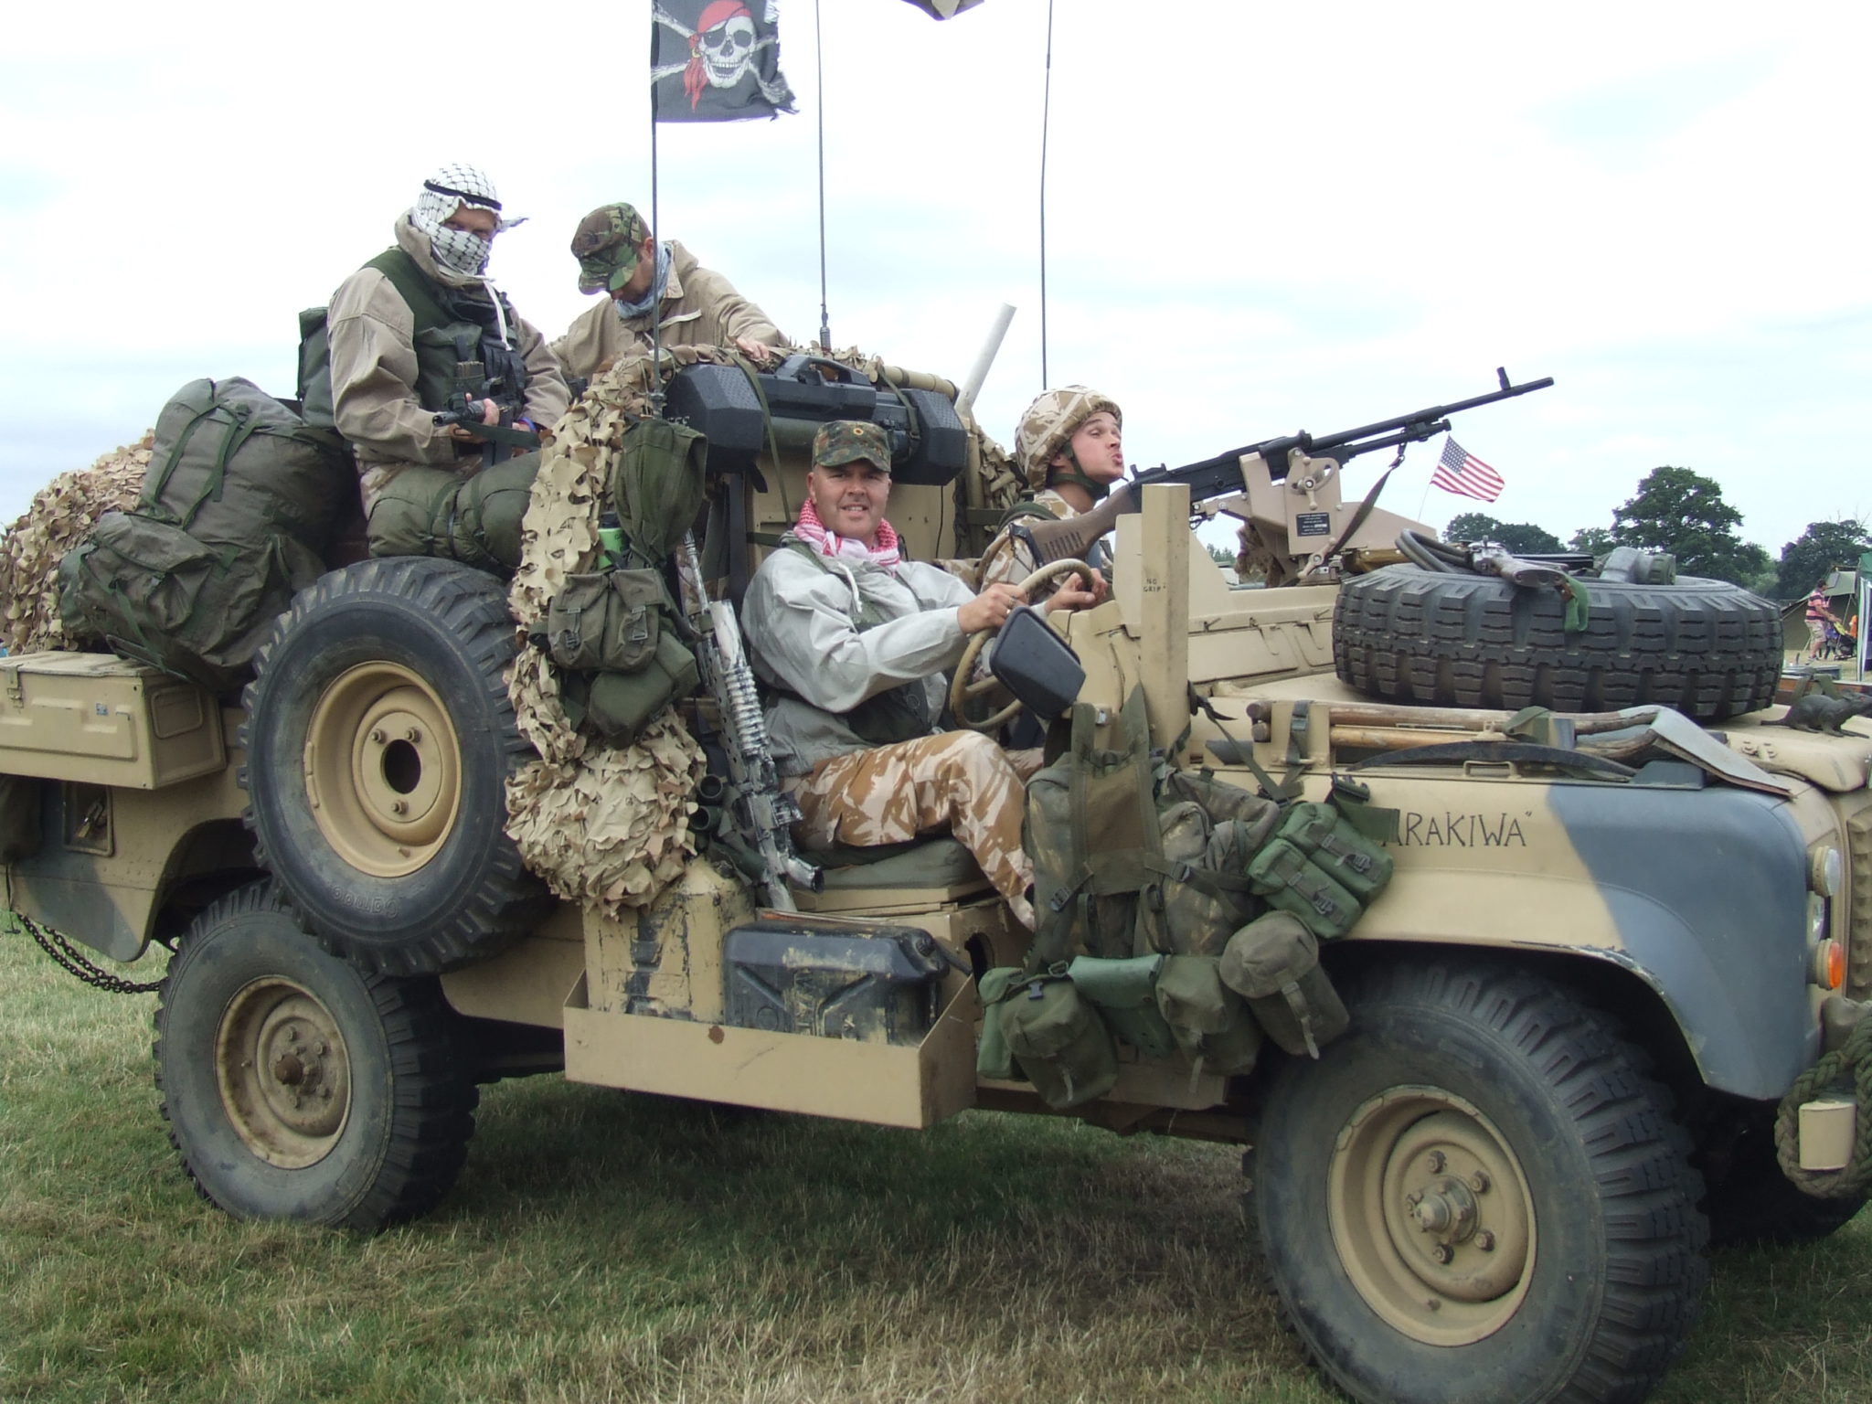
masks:
[[[455,1183],[477,1091],[432,977],[318,949],[271,884],[202,912],[155,1009],[168,1140],[238,1219],[374,1232]]]

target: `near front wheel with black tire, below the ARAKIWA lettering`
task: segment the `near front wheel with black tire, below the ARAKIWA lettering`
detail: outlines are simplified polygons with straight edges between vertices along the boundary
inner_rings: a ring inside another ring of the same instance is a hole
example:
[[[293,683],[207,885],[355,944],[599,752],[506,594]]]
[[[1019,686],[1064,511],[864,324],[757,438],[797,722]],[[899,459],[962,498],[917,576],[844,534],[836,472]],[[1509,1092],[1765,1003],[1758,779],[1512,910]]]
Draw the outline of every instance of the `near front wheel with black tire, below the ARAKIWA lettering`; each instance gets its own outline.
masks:
[[[1644,1398],[1707,1275],[1668,1093],[1606,1016],[1516,973],[1374,968],[1346,1003],[1320,1061],[1275,1073],[1252,1157],[1312,1355],[1368,1404]]]

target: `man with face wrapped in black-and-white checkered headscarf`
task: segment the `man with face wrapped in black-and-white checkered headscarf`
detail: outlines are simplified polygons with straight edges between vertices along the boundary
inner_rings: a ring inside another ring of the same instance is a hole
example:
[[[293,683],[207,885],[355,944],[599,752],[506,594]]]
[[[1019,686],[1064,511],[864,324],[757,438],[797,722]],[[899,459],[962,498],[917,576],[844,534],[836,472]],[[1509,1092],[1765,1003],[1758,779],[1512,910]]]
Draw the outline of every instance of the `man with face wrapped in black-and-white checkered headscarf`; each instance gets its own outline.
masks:
[[[459,352],[453,341],[419,335],[425,329],[455,328],[466,337],[487,374],[519,397],[517,429],[550,429],[565,412],[558,361],[487,277],[494,236],[520,223],[504,213],[485,172],[446,165],[397,217],[395,243],[331,294],[333,417],[358,451],[367,513],[399,477],[399,492],[414,492],[417,477],[434,479],[442,492],[483,466],[477,438],[434,423],[438,410],[461,408],[453,401]],[[494,401],[483,401],[483,423],[498,419]],[[524,496],[522,487],[519,507]],[[517,535],[517,519],[513,526]]]

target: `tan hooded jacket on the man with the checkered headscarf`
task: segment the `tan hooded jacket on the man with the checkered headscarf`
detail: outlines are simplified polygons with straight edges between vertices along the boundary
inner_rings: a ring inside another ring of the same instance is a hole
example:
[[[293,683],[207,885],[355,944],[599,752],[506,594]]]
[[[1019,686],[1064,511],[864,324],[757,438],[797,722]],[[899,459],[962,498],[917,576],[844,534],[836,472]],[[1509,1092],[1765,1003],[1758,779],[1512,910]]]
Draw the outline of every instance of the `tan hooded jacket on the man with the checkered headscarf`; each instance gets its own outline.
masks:
[[[436,268],[429,238],[397,217],[397,247],[436,283],[449,288],[481,286],[481,279]],[[431,423],[432,410],[416,399],[416,318],[402,294],[374,268],[359,268],[331,294],[326,311],[331,344],[331,402],[339,432],[358,449],[358,468],[382,481],[404,464],[472,468],[479,446],[462,444]],[[565,376],[545,339],[515,318],[515,346],[526,361],[526,417],[550,429],[565,414]]]

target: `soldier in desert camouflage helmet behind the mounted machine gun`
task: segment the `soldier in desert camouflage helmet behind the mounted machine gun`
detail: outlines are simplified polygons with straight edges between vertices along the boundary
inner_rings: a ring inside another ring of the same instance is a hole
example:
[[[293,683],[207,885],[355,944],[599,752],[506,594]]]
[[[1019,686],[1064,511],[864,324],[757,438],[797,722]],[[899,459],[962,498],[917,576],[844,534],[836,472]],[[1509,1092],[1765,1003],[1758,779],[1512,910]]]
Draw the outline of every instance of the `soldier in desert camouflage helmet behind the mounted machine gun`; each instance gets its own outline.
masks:
[[[1009,513],[1000,535],[981,554],[983,586],[996,580],[1020,584],[1039,567],[1030,548],[1013,535],[1020,517],[1065,520],[1091,511],[1112,490],[1112,483],[1125,475],[1123,427],[1125,414],[1118,401],[1086,386],[1048,389],[1028,406],[1015,429],[1015,462],[1033,498]],[[1091,588],[1103,595],[1104,580],[1093,580]]]

